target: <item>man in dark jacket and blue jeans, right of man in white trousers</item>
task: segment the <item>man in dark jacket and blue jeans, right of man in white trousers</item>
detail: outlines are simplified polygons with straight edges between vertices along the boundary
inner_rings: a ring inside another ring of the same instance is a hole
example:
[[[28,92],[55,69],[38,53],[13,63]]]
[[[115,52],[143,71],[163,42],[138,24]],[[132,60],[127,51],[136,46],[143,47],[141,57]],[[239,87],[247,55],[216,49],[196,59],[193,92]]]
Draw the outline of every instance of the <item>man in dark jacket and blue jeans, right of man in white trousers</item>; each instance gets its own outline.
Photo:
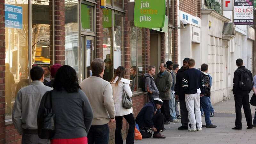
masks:
[[[208,65],[202,64],[201,65],[201,71],[204,79],[204,96],[200,98],[200,105],[204,110],[204,120],[206,124],[206,128],[216,128],[216,125],[212,124],[212,121],[210,120],[210,104],[209,104],[209,98],[211,96],[211,86],[210,86],[210,76],[207,74],[208,72]]]

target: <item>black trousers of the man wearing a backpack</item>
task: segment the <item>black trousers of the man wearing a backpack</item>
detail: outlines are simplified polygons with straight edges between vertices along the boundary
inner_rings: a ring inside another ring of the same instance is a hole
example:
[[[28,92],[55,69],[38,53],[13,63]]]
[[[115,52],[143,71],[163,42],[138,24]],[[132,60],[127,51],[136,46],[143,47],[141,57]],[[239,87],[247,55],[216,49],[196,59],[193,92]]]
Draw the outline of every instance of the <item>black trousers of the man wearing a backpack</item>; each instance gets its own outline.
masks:
[[[235,107],[236,107],[236,126],[242,127],[242,105],[244,108],[244,115],[247,122],[247,126],[252,126],[252,112],[249,104],[248,93],[235,94]]]

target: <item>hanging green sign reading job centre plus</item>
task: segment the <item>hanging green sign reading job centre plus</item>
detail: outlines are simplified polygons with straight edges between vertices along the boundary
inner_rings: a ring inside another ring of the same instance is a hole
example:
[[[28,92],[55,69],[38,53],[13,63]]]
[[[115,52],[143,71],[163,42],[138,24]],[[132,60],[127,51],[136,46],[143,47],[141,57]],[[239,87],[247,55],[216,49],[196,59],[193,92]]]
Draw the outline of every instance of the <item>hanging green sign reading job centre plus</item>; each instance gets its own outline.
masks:
[[[136,0],[134,25],[141,28],[162,28],[164,26],[164,0]]]

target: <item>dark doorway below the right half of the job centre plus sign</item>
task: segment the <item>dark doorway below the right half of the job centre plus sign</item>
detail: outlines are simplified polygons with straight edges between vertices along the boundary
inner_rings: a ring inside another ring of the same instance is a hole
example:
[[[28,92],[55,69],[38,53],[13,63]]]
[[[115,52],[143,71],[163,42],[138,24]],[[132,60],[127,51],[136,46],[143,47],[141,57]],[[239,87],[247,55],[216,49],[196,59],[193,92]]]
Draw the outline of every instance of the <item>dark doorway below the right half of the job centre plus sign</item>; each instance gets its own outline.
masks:
[[[160,33],[150,33],[150,65],[156,67],[156,75],[153,76],[156,79],[159,73],[160,65],[160,50],[161,50],[161,34]]]

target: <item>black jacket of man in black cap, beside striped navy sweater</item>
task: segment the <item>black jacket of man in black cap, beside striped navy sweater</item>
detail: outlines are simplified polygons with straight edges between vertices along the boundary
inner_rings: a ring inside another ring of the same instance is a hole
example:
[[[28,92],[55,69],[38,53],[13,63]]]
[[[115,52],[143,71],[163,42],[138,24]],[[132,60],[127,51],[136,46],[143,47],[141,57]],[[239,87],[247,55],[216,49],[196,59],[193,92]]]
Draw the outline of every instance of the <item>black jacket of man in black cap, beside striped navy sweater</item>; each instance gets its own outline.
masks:
[[[189,69],[189,68],[188,68]],[[176,75],[176,84],[175,84],[175,95],[178,95],[180,100],[185,100],[185,92],[182,87],[182,78],[184,77],[185,71],[188,69],[184,69],[183,66],[178,70]]]

